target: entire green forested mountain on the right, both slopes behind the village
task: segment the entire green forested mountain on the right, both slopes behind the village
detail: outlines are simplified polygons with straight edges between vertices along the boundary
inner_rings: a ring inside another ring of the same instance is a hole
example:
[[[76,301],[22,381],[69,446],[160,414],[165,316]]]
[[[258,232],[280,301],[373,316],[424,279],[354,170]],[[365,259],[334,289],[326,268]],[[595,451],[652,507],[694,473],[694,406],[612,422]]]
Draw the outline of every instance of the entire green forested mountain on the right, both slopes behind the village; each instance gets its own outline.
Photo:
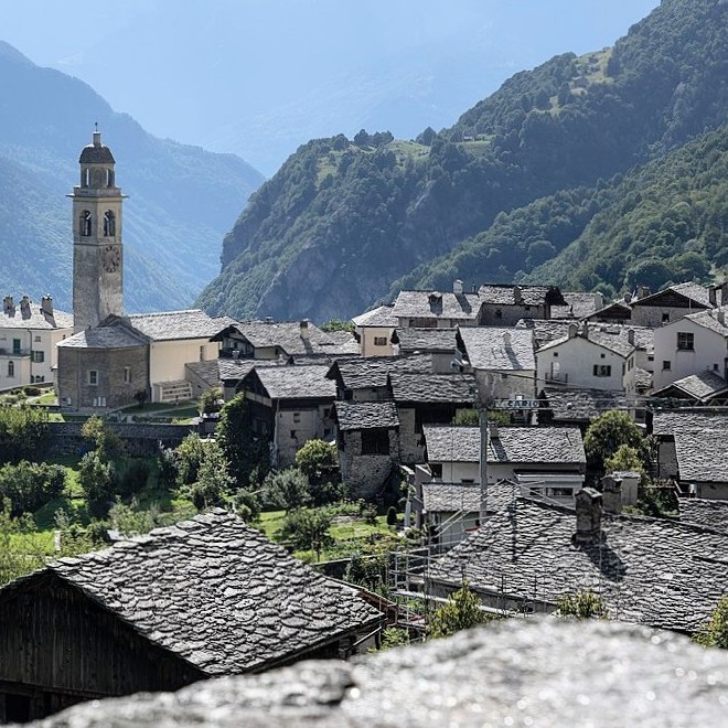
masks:
[[[323,321],[456,278],[720,275],[727,65],[728,0],[663,0],[613,49],[518,73],[417,143],[311,141],[251,197],[200,302]]]

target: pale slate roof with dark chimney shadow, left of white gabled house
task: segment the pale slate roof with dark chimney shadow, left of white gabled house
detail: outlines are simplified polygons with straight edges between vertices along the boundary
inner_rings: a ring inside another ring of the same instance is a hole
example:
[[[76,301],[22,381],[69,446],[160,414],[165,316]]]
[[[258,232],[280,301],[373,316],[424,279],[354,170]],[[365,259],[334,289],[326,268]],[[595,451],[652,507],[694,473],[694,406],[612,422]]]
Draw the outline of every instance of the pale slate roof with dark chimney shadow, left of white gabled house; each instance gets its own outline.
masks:
[[[526,329],[463,326],[459,336],[474,370],[517,372],[536,368],[534,338]]]

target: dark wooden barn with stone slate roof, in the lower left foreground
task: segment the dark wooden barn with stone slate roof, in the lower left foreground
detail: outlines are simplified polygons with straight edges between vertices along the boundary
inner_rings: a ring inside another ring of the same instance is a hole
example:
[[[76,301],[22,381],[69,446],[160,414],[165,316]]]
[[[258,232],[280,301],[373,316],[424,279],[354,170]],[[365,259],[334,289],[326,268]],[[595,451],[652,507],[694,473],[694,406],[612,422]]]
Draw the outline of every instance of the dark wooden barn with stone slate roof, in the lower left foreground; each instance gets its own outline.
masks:
[[[0,589],[0,722],[346,657],[382,621],[236,516],[196,516]]]

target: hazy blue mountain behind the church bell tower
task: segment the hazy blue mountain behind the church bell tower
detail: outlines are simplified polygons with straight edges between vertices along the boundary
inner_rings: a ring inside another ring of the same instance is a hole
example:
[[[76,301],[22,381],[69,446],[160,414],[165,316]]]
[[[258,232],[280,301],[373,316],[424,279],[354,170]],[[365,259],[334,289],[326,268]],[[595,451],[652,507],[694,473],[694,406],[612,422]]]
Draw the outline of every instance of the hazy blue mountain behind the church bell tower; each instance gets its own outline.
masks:
[[[128,311],[188,307],[220,270],[220,242],[263,176],[242,159],[160,140],[86,84],[0,42],[0,292],[71,301],[71,204],[98,122],[125,203]]]

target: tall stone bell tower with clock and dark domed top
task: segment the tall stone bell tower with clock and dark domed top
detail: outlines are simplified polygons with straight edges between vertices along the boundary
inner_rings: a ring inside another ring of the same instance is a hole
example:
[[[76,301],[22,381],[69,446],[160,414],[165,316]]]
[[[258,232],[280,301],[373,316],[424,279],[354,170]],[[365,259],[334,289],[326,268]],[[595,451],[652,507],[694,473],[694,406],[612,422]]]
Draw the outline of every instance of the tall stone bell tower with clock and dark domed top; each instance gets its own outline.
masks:
[[[114,179],[114,156],[94,132],[81,152],[81,184],[73,200],[74,333],[124,313],[121,203]]]

